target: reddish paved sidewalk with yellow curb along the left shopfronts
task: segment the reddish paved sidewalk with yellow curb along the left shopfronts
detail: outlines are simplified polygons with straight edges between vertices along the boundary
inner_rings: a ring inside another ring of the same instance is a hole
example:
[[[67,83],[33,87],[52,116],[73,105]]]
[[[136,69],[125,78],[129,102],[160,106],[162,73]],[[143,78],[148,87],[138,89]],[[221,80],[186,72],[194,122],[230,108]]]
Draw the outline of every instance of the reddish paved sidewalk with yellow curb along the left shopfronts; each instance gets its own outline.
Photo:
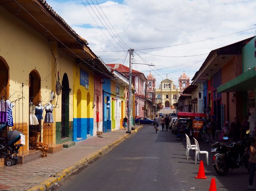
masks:
[[[137,130],[143,126],[135,126]],[[135,131],[132,131],[132,134]],[[39,158],[26,164],[0,167],[0,191],[46,190],[76,172],[95,157],[111,151],[128,138],[124,129],[108,132],[63,148],[59,153]]]

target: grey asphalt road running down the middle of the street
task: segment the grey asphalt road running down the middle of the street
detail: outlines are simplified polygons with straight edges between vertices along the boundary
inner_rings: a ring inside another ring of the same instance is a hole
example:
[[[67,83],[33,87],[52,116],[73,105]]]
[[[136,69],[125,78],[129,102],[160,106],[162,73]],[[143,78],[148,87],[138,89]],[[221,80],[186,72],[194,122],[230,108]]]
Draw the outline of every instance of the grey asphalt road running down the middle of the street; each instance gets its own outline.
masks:
[[[210,145],[199,142],[201,150]],[[211,178],[216,178],[218,191],[247,190],[248,173],[235,169],[228,176],[218,176],[204,161],[207,179],[196,179],[199,162],[195,165],[195,152],[187,160],[186,142],[177,139],[171,131],[145,125],[138,133],[122,142],[113,151],[98,159],[82,172],[65,180],[58,191],[208,191]]]

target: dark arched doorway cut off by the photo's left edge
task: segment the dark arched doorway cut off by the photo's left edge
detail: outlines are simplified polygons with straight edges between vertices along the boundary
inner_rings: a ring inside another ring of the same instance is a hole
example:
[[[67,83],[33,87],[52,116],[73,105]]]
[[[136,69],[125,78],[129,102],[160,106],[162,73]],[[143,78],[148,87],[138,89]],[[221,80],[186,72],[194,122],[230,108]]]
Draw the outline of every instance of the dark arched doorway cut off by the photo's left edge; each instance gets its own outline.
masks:
[[[0,96],[9,97],[9,66],[3,57],[0,56]]]

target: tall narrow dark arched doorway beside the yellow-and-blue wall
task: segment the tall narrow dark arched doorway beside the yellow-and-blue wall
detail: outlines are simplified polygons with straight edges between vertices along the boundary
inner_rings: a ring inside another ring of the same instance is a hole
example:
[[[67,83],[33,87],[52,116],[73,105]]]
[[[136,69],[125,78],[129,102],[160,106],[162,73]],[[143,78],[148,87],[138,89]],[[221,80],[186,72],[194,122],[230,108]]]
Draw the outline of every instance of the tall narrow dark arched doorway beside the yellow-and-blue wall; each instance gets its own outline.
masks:
[[[69,136],[69,81],[65,73],[61,89],[61,138]]]

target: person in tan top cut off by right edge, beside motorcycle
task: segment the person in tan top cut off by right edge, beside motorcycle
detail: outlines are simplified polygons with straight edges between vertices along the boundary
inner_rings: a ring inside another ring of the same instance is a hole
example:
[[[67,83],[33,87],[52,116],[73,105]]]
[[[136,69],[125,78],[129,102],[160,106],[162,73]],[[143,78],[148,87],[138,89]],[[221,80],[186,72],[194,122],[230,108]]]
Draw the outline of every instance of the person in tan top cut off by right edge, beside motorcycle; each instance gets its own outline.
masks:
[[[254,190],[252,186],[254,179],[254,172],[256,170],[256,138],[252,140],[252,145],[250,146],[250,158],[249,158],[249,190]]]

